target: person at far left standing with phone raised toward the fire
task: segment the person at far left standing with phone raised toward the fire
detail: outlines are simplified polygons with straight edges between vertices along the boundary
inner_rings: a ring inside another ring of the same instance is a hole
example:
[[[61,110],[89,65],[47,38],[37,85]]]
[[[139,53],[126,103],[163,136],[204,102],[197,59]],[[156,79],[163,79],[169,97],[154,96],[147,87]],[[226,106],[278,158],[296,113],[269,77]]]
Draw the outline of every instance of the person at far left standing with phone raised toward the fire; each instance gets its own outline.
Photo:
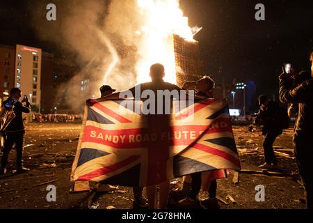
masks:
[[[18,88],[13,88],[10,91],[10,97],[8,100],[5,100],[3,104],[14,105],[13,112],[15,118],[10,121],[6,127],[6,139],[3,146],[3,156],[1,159],[0,175],[6,174],[6,164],[8,163],[8,155],[13,144],[15,144],[16,153],[17,153],[17,173],[23,173],[29,171],[29,169],[22,166],[22,153],[23,153],[23,144],[24,144],[24,135],[25,127],[23,123],[23,113],[31,112],[31,103],[29,98],[25,95],[22,102],[19,99],[22,97],[22,91]],[[24,106],[22,103],[26,102]]]

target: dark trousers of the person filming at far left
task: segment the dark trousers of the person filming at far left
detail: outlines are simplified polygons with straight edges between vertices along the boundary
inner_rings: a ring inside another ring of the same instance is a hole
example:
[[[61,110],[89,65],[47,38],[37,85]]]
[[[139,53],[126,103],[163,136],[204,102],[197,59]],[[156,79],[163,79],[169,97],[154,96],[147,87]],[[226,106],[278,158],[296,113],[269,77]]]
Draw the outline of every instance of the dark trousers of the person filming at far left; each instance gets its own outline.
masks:
[[[17,169],[22,168],[22,154],[23,154],[23,144],[24,144],[25,130],[20,130],[17,132],[6,132],[6,141],[3,146],[3,156],[1,160],[1,167],[6,168],[8,163],[8,155],[10,150],[15,144],[16,148],[16,164]]]

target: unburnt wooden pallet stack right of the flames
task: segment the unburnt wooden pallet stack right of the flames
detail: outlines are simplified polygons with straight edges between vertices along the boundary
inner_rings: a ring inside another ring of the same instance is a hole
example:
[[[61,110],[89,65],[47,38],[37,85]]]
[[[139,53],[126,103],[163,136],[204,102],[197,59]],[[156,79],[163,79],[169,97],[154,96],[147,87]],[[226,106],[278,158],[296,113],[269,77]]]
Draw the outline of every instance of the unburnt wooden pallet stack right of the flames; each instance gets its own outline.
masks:
[[[203,61],[200,59],[199,43],[190,42],[174,35],[177,85],[200,79],[203,75]]]

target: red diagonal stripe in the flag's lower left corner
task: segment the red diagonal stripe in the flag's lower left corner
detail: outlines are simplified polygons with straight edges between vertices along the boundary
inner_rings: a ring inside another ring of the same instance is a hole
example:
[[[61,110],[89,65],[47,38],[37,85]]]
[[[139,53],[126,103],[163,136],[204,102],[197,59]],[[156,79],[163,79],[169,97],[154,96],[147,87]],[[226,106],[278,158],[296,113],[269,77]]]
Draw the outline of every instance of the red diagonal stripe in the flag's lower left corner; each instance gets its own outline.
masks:
[[[85,174],[83,176],[80,176],[77,180],[92,180],[93,178],[97,178],[98,176],[109,174],[113,171],[117,171],[122,167],[125,167],[127,164],[130,164],[131,162],[138,160],[140,157],[141,157],[140,155],[132,155],[131,157],[128,157],[127,159],[122,160],[121,162],[117,162],[109,167],[103,167],[95,171],[92,171],[88,174]]]

